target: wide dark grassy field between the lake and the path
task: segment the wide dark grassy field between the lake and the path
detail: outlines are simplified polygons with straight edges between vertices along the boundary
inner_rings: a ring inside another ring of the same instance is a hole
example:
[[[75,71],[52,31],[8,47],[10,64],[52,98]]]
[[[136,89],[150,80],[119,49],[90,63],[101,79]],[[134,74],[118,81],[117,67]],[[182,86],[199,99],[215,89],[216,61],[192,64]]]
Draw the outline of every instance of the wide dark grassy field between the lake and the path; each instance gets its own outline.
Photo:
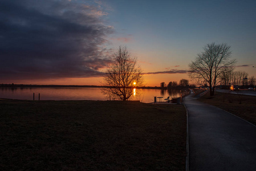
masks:
[[[182,105],[0,100],[0,170],[185,170]]]

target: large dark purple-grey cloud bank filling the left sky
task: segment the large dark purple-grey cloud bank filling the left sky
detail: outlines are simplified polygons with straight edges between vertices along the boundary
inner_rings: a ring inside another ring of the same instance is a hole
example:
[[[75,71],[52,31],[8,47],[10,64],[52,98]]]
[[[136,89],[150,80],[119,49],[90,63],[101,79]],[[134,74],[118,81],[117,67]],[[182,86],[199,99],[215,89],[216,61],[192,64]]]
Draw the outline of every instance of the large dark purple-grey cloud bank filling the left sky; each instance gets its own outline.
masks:
[[[111,62],[104,38],[113,31],[104,15],[92,3],[1,0],[0,79],[103,75]]]

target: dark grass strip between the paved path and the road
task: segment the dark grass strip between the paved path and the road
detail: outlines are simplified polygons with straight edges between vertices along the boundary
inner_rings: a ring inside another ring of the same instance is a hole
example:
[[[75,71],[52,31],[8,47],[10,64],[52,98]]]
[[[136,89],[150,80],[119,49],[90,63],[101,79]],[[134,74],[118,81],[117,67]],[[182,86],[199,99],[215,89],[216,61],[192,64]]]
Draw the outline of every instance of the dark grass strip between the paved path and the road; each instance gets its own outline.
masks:
[[[256,96],[241,95],[239,92],[216,92],[214,96],[207,93],[198,100],[224,109],[256,125]]]

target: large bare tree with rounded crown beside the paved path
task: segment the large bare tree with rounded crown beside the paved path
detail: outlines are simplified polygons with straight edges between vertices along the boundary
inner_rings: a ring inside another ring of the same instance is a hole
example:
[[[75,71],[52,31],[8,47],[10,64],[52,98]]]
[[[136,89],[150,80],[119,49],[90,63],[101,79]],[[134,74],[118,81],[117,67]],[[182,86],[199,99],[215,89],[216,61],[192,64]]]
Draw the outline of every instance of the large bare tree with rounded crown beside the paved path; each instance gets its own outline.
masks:
[[[227,44],[207,44],[204,52],[198,54],[196,60],[189,63],[189,76],[192,79],[203,79],[209,84],[210,95],[214,95],[214,89],[220,82],[221,73],[225,68],[232,68],[235,59],[230,60],[231,51]]]

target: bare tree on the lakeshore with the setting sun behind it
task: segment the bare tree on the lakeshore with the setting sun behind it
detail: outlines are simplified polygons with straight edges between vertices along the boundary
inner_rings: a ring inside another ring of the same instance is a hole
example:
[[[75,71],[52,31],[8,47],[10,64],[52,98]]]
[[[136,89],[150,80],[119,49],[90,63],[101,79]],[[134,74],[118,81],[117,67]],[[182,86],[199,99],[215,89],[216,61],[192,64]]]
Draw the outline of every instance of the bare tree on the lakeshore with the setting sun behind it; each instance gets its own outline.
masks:
[[[126,46],[119,46],[113,55],[113,63],[102,84],[105,87],[102,91],[110,100],[128,100],[133,95],[134,88],[143,86],[142,70]]]

